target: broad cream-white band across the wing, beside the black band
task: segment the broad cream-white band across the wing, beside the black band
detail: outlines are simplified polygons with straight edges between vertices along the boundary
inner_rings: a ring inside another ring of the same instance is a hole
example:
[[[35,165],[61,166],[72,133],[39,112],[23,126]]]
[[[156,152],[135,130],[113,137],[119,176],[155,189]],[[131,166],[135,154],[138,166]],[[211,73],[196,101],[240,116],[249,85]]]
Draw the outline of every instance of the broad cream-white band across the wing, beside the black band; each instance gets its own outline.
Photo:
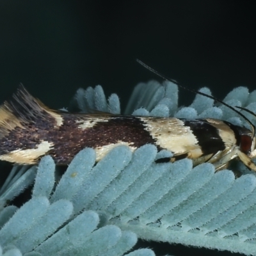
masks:
[[[173,154],[188,153],[189,158],[202,156],[201,147],[190,127],[178,118],[144,118],[145,129],[156,140],[157,145],[166,148]]]

